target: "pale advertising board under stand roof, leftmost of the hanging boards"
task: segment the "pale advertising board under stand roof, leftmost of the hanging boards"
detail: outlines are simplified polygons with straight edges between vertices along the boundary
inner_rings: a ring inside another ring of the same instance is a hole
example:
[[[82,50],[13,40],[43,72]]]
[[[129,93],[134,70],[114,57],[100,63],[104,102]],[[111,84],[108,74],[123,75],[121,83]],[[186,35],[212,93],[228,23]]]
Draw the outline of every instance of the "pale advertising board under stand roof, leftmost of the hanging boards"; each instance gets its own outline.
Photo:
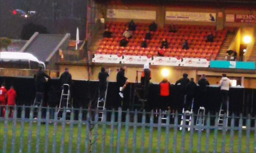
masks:
[[[155,20],[156,11],[107,9],[107,18]]]

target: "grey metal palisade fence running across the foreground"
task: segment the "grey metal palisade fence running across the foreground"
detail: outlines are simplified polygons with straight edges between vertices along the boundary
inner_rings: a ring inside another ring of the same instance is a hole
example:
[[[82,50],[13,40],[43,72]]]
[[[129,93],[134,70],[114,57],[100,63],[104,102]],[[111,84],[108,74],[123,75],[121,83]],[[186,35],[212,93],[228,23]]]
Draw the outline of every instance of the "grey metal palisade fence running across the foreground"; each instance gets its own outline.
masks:
[[[188,125],[186,114],[168,111],[104,110],[99,121],[92,109],[0,108],[2,153],[256,152],[256,118],[250,116],[225,116],[228,124],[219,126],[218,114],[191,114]]]

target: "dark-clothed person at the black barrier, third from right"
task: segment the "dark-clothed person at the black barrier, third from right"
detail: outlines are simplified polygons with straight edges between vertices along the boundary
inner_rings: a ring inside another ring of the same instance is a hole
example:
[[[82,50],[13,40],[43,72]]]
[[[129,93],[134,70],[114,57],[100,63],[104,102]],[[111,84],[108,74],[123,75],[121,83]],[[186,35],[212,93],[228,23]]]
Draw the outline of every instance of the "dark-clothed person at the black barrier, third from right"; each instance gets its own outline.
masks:
[[[194,83],[194,78],[191,78],[190,82],[187,83],[187,86],[186,86],[186,90],[187,90],[187,101],[185,104],[186,113],[189,113],[191,111],[192,101],[195,97],[196,88],[197,88],[197,84]]]

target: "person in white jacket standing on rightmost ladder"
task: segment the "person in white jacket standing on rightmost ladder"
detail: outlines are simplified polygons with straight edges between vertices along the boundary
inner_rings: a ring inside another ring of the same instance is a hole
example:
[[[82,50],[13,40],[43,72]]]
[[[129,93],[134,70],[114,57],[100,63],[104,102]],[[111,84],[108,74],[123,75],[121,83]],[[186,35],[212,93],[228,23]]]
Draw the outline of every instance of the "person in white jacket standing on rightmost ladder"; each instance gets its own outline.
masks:
[[[222,78],[220,80],[220,96],[222,100],[222,108],[227,111],[228,108],[228,91],[231,86],[230,79],[228,79],[226,74],[222,74]]]

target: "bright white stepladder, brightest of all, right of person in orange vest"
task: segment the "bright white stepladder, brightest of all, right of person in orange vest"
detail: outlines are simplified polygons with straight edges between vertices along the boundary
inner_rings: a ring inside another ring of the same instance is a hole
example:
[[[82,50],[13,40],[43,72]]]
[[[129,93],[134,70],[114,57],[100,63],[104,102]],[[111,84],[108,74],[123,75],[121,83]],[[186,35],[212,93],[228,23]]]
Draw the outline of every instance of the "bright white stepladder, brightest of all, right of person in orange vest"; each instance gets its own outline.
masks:
[[[187,95],[184,96],[184,106],[187,102]],[[191,125],[191,115],[193,113],[193,106],[194,106],[194,98],[192,99],[191,103],[191,110],[190,111],[185,111],[185,107],[183,107],[182,113],[183,115],[181,116],[181,121],[180,125],[186,125],[188,122],[188,125]],[[182,130],[183,127],[180,127],[180,130]],[[190,127],[187,128],[188,131],[190,131]]]

